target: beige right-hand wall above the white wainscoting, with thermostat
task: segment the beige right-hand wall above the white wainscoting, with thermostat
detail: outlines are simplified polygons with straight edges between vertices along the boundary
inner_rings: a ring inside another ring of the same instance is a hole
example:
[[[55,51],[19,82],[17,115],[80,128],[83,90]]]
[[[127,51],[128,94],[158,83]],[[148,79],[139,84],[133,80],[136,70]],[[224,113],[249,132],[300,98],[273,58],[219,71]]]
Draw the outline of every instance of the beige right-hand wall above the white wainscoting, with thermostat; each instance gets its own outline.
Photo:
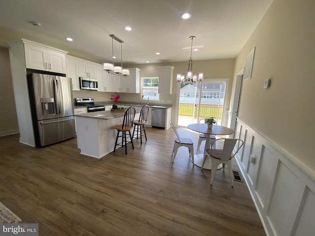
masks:
[[[315,172],[315,3],[274,0],[235,61],[255,49],[239,117]],[[264,80],[271,78],[269,89]],[[235,83],[235,80],[234,80]]]

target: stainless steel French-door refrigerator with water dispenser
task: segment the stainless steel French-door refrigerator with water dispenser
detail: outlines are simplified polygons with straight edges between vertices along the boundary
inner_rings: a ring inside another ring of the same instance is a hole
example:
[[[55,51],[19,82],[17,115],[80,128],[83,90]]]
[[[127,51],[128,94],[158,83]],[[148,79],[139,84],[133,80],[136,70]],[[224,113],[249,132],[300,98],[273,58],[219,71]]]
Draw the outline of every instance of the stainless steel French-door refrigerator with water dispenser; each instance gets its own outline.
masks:
[[[33,73],[28,85],[36,147],[73,138],[71,78]]]

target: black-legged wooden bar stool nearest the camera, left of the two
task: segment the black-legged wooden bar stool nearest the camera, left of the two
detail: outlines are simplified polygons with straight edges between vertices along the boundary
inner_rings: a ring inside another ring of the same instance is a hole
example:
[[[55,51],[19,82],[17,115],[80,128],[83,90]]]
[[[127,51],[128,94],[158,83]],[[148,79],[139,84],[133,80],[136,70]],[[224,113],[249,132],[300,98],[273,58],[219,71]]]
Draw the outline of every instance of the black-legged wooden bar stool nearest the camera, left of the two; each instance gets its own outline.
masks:
[[[134,107],[129,107],[125,112],[123,124],[115,125],[113,127],[113,129],[117,130],[114,152],[116,150],[117,145],[122,146],[122,147],[125,146],[125,154],[127,154],[127,142],[131,143],[132,149],[134,149],[130,130],[133,129],[133,119],[134,119],[135,114],[136,114],[136,110],[134,109]],[[130,141],[127,141],[127,136],[126,136],[127,131],[128,131]],[[122,132],[122,135],[119,135],[120,132]],[[122,138],[122,142],[117,144],[119,137]],[[125,142],[125,145],[124,145],[124,142]]]

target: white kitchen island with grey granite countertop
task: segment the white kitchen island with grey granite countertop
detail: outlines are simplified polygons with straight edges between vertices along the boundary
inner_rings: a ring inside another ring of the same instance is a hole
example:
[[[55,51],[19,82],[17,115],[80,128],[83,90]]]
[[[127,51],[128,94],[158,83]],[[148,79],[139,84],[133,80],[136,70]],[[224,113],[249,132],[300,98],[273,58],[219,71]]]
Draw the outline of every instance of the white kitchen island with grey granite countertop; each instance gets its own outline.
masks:
[[[124,115],[124,112],[110,111],[75,115],[77,143],[78,148],[81,149],[80,154],[101,158],[112,152],[117,135],[117,131],[112,127],[122,124]],[[139,114],[136,114],[137,116]]]

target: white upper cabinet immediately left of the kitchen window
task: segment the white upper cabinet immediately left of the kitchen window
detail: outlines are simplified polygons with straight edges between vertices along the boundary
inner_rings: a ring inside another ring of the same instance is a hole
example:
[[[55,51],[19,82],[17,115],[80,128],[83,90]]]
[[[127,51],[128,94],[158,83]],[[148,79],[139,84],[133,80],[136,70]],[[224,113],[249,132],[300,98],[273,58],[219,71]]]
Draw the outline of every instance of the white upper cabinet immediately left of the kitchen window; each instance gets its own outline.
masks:
[[[121,76],[121,92],[140,93],[140,69],[126,68],[129,70],[129,76]]]

